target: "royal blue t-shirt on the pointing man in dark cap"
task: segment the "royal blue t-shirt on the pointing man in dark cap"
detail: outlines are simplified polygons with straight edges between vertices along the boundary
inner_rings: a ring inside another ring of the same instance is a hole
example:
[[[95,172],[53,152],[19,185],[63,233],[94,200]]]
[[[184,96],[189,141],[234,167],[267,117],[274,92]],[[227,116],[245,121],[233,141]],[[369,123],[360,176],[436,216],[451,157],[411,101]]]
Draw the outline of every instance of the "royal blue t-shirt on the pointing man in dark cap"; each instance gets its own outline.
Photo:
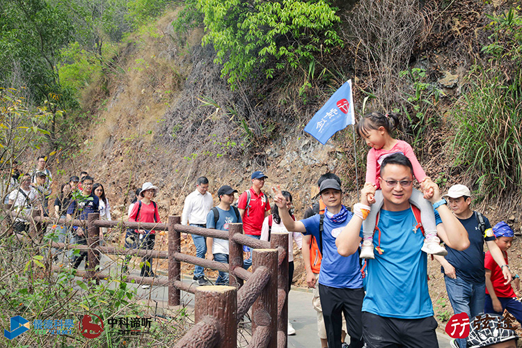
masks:
[[[337,252],[335,239],[342,229],[349,223],[351,212],[348,212],[347,219],[343,223],[334,223],[325,214],[323,222],[323,248],[321,271],[319,271],[319,284],[336,288],[359,289],[363,287],[363,277],[361,276],[361,266],[359,264],[358,253],[350,256],[341,256]],[[319,242],[319,219],[320,215],[310,216],[308,219],[301,220],[306,228],[305,235],[313,235]]]

